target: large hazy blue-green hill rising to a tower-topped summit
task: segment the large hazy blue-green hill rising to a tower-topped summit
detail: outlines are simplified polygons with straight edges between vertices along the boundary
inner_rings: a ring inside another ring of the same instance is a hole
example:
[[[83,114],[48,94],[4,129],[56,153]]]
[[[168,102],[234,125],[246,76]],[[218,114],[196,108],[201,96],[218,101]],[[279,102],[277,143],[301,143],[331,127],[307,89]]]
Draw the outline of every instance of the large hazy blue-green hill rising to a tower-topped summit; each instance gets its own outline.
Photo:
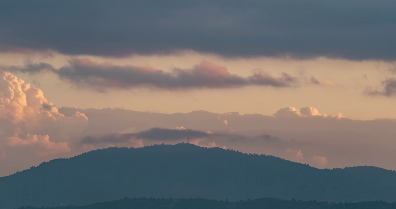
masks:
[[[394,202],[396,172],[365,166],[317,169],[274,156],[184,143],[95,150],[0,178],[0,209],[88,205],[124,197]]]

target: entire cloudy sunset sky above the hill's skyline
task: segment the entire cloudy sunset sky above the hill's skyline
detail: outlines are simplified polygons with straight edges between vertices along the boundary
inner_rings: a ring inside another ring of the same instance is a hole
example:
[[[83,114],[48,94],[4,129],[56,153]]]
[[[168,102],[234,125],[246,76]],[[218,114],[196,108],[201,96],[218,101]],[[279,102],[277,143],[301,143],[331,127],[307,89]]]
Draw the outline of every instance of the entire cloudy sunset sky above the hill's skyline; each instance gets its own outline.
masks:
[[[318,168],[396,169],[395,6],[6,1],[0,176],[189,131]]]

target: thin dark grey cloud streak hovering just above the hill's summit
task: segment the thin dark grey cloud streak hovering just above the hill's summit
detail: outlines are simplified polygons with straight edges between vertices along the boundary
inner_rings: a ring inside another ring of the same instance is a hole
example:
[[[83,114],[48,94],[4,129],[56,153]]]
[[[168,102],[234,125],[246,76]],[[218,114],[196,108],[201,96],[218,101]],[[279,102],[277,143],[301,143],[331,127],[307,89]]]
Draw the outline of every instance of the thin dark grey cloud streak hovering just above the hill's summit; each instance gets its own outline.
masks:
[[[84,137],[81,140],[82,144],[97,144],[97,143],[119,143],[127,142],[131,139],[145,139],[151,141],[180,141],[193,138],[208,137],[208,133],[203,131],[196,131],[192,129],[163,129],[163,128],[152,128],[147,131],[141,131],[139,133],[128,133],[128,134],[110,134],[100,137]]]

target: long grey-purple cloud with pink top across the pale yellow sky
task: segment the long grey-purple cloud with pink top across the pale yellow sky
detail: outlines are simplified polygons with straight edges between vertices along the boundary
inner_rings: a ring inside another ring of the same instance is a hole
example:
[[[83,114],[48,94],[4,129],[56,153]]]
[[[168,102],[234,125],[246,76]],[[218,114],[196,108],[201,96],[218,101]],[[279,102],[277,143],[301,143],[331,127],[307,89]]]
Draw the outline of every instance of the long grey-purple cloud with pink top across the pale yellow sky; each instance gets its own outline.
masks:
[[[106,91],[107,89],[131,89],[155,87],[158,89],[234,88],[243,86],[295,87],[297,78],[282,72],[273,77],[264,70],[254,69],[252,75],[242,77],[230,74],[226,67],[201,62],[189,69],[173,68],[165,72],[151,67],[97,63],[90,59],[70,59],[69,65],[59,69],[48,63],[28,64],[25,67],[2,66],[10,72],[53,72],[61,80],[83,89]]]

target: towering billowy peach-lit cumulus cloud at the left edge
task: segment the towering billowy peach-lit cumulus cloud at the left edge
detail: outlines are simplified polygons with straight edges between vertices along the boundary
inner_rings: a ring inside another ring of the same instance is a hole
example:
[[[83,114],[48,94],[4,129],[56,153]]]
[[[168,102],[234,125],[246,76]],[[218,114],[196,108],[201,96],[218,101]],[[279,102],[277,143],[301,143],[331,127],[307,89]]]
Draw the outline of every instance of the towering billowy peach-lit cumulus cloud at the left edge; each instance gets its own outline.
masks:
[[[65,117],[43,92],[8,72],[0,74],[0,150],[29,150],[36,156],[70,152],[70,142],[88,126],[88,118],[75,112]],[[32,157],[32,156],[30,156]],[[11,157],[10,157],[11,158]]]

